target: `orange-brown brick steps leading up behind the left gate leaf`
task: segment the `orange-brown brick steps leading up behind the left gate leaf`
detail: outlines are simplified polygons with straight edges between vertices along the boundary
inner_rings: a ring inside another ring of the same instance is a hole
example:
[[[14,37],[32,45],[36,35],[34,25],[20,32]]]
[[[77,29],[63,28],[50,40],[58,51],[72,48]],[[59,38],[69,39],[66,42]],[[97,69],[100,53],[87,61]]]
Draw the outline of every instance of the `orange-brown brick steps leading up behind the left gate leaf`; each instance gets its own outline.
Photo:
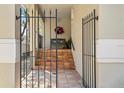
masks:
[[[51,52],[51,53],[50,53]],[[37,52],[35,52],[37,55]],[[36,56],[35,55],[35,56]],[[46,50],[45,51],[45,62],[44,62],[44,51],[41,49],[39,52],[40,58],[35,62],[36,66],[44,68],[44,65],[46,65],[47,69],[50,69],[50,64],[52,62],[52,68],[56,69],[56,50]],[[75,69],[73,56],[71,54],[71,51],[69,49],[59,49],[57,53],[57,63],[58,63],[58,69]]]

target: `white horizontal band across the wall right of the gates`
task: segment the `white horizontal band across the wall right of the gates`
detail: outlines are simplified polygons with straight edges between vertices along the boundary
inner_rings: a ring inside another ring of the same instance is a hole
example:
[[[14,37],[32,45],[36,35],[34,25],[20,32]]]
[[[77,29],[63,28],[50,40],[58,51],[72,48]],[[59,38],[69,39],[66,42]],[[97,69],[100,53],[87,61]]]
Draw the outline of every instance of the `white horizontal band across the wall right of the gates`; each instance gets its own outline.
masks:
[[[97,62],[124,62],[124,39],[96,41]]]

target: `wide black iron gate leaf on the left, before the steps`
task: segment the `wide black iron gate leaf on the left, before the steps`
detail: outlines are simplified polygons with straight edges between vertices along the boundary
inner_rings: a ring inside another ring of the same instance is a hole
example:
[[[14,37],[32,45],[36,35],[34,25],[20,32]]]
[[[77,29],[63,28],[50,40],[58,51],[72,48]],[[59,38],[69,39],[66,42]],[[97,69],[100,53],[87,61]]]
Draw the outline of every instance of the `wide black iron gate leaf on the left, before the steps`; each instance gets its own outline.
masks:
[[[45,10],[41,16],[38,10],[37,16],[29,15],[27,10],[20,9],[20,16],[16,19],[20,20],[20,87],[21,88],[47,88],[58,87],[58,56],[56,43],[56,70],[52,71],[52,63],[50,63],[50,71],[46,70],[46,19],[49,20],[50,25],[50,39],[52,19],[55,20],[55,27],[57,27],[57,9],[54,11],[54,16],[51,10],[49,16],[46,16]],[[43,36],[40,35],[40,20],[43,19]],[[57,39],[57,33],[56,37]],[[42,44],[41,44],[42,42]],[[32,46],[32,47],[31,47]],[[42,48],[42,49],[41,49]],[[50,58],[52,55],[50,42]],[[42,54],[41,54],[42,53]],[[42,55],[42,58],[40,58]],[[40,62],[43,61],[42,67]],[[34,77],[35,76],[35,77]]]

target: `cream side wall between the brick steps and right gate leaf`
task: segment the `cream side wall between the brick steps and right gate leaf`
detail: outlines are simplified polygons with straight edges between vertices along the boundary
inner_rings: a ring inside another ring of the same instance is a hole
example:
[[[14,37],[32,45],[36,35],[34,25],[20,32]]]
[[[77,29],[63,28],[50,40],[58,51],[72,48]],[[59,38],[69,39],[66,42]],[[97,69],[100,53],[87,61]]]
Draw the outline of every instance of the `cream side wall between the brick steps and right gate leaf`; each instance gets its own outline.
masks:
[[[82,75],[82,18],[93,9],[98,13],[98,5],[74,5],[72,8],[71,36],[75,50],[72,50],[76,70]]]

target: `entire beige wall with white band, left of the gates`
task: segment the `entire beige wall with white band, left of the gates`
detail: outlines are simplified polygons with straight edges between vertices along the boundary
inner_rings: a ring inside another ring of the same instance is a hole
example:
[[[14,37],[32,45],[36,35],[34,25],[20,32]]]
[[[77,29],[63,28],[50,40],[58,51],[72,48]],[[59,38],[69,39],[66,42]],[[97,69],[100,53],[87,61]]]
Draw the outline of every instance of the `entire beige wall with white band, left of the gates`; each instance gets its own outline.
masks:
[[[15,87],[15,5],[0,5],[0,87]]]

